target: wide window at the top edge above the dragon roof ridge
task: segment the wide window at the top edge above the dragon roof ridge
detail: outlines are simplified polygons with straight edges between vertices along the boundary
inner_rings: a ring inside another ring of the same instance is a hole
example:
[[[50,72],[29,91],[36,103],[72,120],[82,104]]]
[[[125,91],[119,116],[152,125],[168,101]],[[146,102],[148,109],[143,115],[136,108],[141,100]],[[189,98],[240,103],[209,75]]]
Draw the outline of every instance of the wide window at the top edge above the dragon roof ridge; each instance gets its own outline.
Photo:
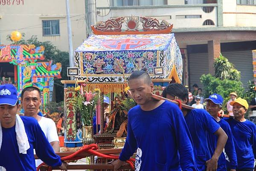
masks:
[[[111,6],[166,5],[167,0],[111,0]]]

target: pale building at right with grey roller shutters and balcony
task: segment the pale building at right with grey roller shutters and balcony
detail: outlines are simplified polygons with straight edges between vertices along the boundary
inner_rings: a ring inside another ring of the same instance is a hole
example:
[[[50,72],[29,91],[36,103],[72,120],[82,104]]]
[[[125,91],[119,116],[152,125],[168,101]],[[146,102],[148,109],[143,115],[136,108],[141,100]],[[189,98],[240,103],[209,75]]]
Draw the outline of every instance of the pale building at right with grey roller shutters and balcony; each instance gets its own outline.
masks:
[[[202,74],[214,74],[221,52],[241,72],[241,81],[253,79],[256,49],[256,0],[96,0],[97,21],[110,17],[148,16],[173,24],[183,53],[183,83],[192,87]]]

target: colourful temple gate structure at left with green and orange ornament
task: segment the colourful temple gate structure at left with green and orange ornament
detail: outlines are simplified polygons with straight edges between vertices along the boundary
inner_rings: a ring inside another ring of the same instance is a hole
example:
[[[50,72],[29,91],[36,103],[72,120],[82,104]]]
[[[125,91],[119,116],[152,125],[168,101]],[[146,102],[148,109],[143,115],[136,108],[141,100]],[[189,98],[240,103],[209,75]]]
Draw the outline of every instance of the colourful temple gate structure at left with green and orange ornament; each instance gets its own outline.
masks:
[[[20,95],[25,87],[35,86],[41,90],[43,106],[52,100],[54,78],[61,78],[61,63],[44,60],[44,46],[0,45],[0,62],[9,62],[14,67],[15,82]],[[44,113],[48,110],[44,107]]]

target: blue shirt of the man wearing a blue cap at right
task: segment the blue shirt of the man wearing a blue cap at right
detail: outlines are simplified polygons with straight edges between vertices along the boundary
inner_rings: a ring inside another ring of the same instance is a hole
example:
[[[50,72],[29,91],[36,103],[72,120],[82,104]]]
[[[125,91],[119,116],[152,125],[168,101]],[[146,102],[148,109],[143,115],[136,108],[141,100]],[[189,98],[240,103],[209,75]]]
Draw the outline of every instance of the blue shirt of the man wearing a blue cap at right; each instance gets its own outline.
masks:
[[[233,134],[232,134],[231,128],[229,124],[223,119],[218,121],[218,124],[221,126],[221,128],[225,131],[225,133],[228,136],[224,151],[227,154],[229,162],[226,162],[226,157],[222,152],[218,159],[217,171],[226,171],[227,170],[226,165],[228,165],[228,168],[230,169],[236,169],[237,167],[236,150],[233,142]],[[217,146],[218,136],[207,133],[207,138],[208,138],[210,154],[213,155]]]

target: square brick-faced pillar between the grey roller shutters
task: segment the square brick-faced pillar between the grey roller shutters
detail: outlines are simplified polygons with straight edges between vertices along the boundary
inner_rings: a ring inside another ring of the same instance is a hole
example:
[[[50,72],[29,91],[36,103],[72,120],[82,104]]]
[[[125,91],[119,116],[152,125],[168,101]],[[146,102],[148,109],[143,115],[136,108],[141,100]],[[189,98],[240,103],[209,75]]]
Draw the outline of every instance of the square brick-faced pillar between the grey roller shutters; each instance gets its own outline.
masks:
[[[221,42],[220,40],[208,41],[208,65],[209,73],[214,75],[214,60],[218,58],[221,52]]]

